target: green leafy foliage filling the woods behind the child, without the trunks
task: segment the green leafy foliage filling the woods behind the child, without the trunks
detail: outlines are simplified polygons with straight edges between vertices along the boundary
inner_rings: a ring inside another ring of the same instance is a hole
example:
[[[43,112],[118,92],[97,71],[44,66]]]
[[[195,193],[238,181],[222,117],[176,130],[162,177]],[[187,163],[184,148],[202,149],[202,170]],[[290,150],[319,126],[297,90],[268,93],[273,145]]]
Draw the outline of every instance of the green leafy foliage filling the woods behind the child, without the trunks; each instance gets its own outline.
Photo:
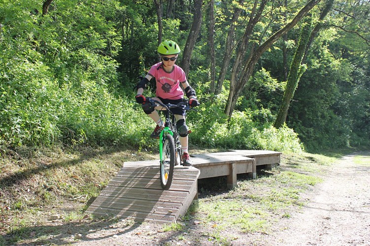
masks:
[[[22,145],[50,146],[59,142],[68,146],[130,145],[139,150],[156,146],[147,138],[154,123],[134,104],[132,91],[137,76],[158,62],[154,4],[53,1],[46,15],[41,14],[42,4],[40,0],[3,0],[0,5],[1,153]],[[174,2],[172,8],[167,4],[164,2],[162,38],[173,39],[184,49],[193,9],[188,2]],[[231,10],[236,4],[215,4],[216,78],[224,58]],[[265,12],[256,25],[253,42],[265,40],[283,25],[280,17],[285,10],[289,19],[290,13],[302,4],[296,1],[285,9],[269,2],[273,10]],[[238,7],[248,13],[253,2]],[[342,7],[364,20],[365,24],[354,20],[347,23],[351,30],[360,30],[366,36],[368,3],[357,7],[343,3]],[[317,13],[317,9],[312,11],[314,20]],[[245,16],[248,15],[241,14],[236,20],[235,40],[243,35]],[[333,13],[324,25],[340,25],[344,18],[348,16]],[[209,95],[210,52],[207,25],[203,25],[188,75],[202,103],[198,113],[188,115],[193,130],[191,142],[210,147],[298,152],[303,149],[298,136],[308,150],[368,144],[369,49],[354,32],[326,27],[312,44],[306,72],[289,108],[288,126],[277,130],[271,124],[285,87],[284,41],[278,41],[262,56],[229,120],[223,110],[232,63],[222,94]],[[288,33],[288,63],[299,33],[299,28]],[[181,59],[180,54],[178,61]]]

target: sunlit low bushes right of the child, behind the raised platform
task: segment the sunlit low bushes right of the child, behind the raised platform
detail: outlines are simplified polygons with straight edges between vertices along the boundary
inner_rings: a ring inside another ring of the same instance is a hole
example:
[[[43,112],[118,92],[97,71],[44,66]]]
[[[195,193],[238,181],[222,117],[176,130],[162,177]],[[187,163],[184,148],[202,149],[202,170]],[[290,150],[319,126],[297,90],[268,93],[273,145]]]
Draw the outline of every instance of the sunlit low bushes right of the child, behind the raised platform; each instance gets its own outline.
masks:
[[[276,129],[269,124],[254,122],[249,112],[235,111],[230,122],[221,111],[222,100],[201,104],[198,113],[188,114],[193,144],[224,149],[249,149],[302,152],[298,135],[286,125]],[[269,115],[269,114],[267,114]],[[267,116],[269,117],[269,116]]]

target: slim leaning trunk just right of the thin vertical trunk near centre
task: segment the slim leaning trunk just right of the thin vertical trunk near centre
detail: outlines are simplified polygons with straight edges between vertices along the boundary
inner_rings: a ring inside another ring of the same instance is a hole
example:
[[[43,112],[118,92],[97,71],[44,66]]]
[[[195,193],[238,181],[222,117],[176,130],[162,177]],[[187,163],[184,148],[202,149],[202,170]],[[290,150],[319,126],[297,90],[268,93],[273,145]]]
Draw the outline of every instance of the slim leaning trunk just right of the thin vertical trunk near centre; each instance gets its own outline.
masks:
[[[243,5],[243,0],[239,0],[239,5]],[[225,75],[227,73],[227,70],[229,68],[229,63],[230,59],[232,56],[232,51],[233,51],[233,43],[234,43],[234,37],[235,37],[235,27],[236,27],[236,21],[239,18],[241,8],[236,7],[234,9],[234,15],[231,20],[230,28],[228,31],[228,35],[226,38],[226,48],[225,48],[225,54],[224,54],[224,59],[222,61],[222,66],[220,70],[220,74],[218,75],[217,79],[217,87],[215,90],[215,95],[218,95],[222,91],[222,84],[224,83],[225,80]]]

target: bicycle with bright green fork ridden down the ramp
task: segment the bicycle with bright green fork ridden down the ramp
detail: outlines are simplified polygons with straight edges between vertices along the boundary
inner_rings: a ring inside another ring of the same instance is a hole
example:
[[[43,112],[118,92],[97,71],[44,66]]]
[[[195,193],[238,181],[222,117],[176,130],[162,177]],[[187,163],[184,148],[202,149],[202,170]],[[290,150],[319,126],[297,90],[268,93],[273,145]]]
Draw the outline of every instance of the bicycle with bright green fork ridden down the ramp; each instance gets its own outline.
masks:
[[[165,127],[159,136],[159,155],[160,155],[160,180],[163,189],[169,189],[172,184],[173,171],[176,165],[181,165],[181,145],[179,135],[176,129],[176,119],[174,114],[169,110],[171,108],[185,105],[185,111],[195,110],[190,107],[189,101],[183,99],[178,104],[164,104],[153,98],[147,98],[148,103],[152,106],[162,106],[165,111]],[[189,131],[190,133],[191,131]]]

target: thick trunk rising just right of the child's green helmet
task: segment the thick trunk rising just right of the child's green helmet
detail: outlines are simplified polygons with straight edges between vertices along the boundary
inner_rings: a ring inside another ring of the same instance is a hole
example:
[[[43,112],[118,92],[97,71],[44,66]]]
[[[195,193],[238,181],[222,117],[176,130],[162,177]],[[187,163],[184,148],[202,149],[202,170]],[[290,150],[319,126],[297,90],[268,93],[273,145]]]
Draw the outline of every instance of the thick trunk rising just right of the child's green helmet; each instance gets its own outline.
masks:
[[[199,31],[202,25],[202,4],[203,0],[194,0],[194,16],[193,24],[189,32],[188,39],[182,55],[181,67],[184,70],[186,77],[188,77],[190,69],[190,58],[193,53],[195,42],[198,38]]]

